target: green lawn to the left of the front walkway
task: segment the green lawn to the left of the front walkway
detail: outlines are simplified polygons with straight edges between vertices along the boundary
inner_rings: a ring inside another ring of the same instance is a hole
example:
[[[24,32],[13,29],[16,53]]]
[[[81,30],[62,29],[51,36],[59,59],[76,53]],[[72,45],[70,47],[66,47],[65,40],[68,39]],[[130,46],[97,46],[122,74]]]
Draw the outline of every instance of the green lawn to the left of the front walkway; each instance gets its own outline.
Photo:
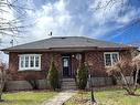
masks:
[[[43,101],[56,94],[47,91],[4,93],[2,95],[4,102],[1,102],[0,105],[41,105]]]

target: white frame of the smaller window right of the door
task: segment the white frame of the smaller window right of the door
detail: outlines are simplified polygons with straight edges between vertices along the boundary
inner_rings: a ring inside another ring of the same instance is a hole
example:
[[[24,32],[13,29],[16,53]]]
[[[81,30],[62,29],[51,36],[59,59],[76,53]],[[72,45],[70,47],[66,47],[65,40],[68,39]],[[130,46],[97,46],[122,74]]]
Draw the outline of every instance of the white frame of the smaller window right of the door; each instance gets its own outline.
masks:
[[[106,64],[106,54],[110,55],[110,61],[111,61],[111,65],[107,65]],[[117,54],[117,57],[119,60],[119,52],[104,52],[104,63],[105,63],[105,67],[110,67],[114,64],[114,59],[112,59],[112,54]]]

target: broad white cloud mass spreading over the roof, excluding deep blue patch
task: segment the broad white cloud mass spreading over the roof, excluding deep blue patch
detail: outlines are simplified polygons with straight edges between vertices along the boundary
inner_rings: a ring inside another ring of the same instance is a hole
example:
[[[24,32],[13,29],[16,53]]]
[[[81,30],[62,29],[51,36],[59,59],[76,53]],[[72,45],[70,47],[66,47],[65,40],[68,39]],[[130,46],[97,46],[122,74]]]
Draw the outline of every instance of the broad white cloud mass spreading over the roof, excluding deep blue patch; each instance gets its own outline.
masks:
[[[138,18],[140,9],[134,6],[127,6],[128,0],[28,0],[26,6],[34,11],[26,11],[28,23],[35,24],[24,34],[24,39],[18,39],[18,43],[25,43],[34,40],[49,38],[52,31],[53,36],[58,35],[88,35],[100,38],[108,32],[123,28],[126,24]],[[121,2],[123,1],[123,2]],[[123,4],[123,6],[122,6]],[[100,6],[101,9],[96,8]],[[23,23],[24,24],[24,23]]]

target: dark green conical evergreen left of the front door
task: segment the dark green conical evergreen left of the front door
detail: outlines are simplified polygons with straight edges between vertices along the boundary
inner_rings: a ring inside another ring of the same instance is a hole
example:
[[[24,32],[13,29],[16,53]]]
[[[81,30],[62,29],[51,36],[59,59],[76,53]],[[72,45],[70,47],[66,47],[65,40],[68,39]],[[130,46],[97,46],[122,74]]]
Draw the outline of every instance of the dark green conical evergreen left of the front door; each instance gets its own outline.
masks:
[[[49,83],[51,85],[51,87],[55,91],[56,88],[58,88],[58,71],[56,70],[55,65],[54,65],[54,61],[52,59],[51,61],[51,65],[50,65],[50,70],[49,70]]]

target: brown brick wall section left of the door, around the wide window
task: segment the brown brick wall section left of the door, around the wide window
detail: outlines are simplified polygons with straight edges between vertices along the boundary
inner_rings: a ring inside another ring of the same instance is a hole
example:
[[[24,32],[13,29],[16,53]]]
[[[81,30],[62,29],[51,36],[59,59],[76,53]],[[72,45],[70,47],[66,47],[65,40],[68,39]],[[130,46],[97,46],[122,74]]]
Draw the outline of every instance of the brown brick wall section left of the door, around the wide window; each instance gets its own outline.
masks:
[[[21,81],[25,80],[28,77],[30,78],[45,78],[47,71],[50,69],[50,62],[51,62],[51,56],[52,53],[40,53],[42,54],[41,56],[41,71],[18,71],[19,70],[19,54],[21,53],[10,53],[9,57],[9,72],[11,74],[12,80]],[[29,54],[29,53],[28,53]],[[61,54],[54,53],[54,61],[55,61],[55,66],[57,70],[61,70]]]

